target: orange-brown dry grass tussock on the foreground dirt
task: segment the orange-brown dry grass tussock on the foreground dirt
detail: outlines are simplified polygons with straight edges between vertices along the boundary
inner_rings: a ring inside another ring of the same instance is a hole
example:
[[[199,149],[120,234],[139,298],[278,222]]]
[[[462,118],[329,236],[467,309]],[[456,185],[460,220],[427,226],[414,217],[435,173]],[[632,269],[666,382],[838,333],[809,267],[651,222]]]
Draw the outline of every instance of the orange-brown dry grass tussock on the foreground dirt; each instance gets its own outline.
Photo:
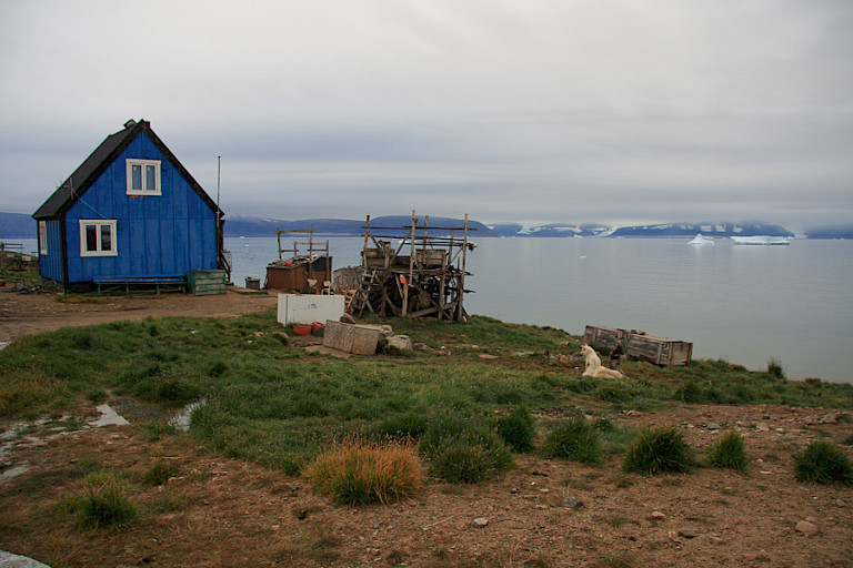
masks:
[[[423,485],[412,444],[350,439],[321,453],[304,470],[317,490],[342,505],[391,503]]]

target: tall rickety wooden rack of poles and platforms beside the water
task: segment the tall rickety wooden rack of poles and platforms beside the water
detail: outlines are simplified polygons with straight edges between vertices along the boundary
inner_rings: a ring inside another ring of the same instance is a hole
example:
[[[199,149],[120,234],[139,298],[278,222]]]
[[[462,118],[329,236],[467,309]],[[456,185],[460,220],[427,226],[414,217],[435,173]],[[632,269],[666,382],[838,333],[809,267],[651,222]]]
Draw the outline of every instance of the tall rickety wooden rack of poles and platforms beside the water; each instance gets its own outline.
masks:
[[[472,274],[465,272],[465,263],[469,251],[474,248],[468,240],[468,214],[461,229],[429,224],[426,216],[419,225],[414,211],[409,226],[371,226],[368,215],[359,287],[348,298],[348,312],[468,320],[463,300],[471,291],[465,290],[465,276]],[[393,247],[392,242],[398,240]]]

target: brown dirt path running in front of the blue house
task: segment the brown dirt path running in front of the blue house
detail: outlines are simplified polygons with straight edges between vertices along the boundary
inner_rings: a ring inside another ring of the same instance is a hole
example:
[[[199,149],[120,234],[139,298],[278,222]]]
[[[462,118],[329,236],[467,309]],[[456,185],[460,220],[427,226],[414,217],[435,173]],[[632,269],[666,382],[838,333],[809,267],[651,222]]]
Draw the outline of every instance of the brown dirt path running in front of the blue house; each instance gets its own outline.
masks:
[[[0,342],[60,327],[94,325],[119,320],[165,316],[237,316],[277,305],[275,294],[250,294],[229,287],[227,294],[193,296],[163,293],[150,296],[69,296],[59,294],[0,294]]]

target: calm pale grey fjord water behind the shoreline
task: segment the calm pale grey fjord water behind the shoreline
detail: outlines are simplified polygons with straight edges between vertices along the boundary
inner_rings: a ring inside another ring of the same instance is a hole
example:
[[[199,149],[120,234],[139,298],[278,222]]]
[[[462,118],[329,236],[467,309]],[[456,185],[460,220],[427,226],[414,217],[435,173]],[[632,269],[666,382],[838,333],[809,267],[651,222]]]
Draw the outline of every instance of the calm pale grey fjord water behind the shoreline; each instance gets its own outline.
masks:
[[[323,237],[324,240],[325,237]],[[359,263],[363,240],[331,237],[333,266]],[[548,325],[643,329],[693,343],[695,358],[789,378],[853,383],[853,242],[689,245],[689,239],[476,239],[471,314]],[[232,280],[263,280],[275,239],[227,239]]]

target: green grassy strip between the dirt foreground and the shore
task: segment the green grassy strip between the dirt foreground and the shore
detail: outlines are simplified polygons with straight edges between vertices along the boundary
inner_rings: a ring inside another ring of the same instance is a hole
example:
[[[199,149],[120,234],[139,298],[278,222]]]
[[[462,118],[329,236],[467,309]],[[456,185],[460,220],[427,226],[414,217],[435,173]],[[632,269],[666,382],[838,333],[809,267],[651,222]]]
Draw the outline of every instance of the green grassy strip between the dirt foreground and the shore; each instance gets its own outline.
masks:
[[[596,379],[544,355],[579,351],[580,339],[560,329],[482,316],[466,325],[391,323],[451,355],[310,355],[290,344],[272,311],[24,337],[0,352],[0,417],[58,416],[113,395],[174,407],[204,399],[191,433],[208,448],[295,474],[348,436],[423,434],[428,416],[485,424],[518,407],[562,416],[679,403],[853,407],[852,385],[789,382],[777,366],[756,373],[724,361],[670,368],[628,362],[630,379]]]

